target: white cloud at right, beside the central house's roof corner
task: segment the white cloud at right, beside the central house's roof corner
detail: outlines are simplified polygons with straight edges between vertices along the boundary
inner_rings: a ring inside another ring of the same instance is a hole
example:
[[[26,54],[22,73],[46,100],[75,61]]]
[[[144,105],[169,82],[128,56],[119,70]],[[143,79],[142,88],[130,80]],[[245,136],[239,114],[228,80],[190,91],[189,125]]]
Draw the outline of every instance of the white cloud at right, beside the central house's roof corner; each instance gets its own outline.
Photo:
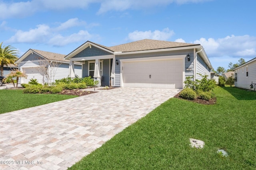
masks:
[[[244,57],[256,55],[256,37],[250,37],[249,35],[231,35],[216,40],[200,38],[194,43],[201,44],[208,56]]]

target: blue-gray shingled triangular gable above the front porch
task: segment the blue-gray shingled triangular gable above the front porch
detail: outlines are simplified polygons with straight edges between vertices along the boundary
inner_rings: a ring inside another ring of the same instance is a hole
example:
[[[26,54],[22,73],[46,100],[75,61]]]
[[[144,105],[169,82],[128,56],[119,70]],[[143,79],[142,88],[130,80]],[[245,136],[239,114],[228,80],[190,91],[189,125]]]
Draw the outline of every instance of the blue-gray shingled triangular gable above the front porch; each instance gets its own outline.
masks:
[[[80,58],[80,57],[92,57],[92,56],[100,56],[100,55],[112,55],[112,53],[108,53],[102,49],[98,49],[97,47],[92,46],[92,48],[87,47],[77,55],[72,58]]]

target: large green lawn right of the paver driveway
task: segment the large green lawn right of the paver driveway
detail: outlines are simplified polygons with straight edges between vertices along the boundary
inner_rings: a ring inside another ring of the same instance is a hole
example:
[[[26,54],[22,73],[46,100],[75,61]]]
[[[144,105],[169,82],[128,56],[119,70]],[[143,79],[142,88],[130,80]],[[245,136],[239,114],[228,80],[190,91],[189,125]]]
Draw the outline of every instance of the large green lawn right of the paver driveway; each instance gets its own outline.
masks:
[[[256,92],[214,92],[215,105],[166,101],[69,169],[255,170]],[[191,148],[189,138],[204,141],[204,148]]]

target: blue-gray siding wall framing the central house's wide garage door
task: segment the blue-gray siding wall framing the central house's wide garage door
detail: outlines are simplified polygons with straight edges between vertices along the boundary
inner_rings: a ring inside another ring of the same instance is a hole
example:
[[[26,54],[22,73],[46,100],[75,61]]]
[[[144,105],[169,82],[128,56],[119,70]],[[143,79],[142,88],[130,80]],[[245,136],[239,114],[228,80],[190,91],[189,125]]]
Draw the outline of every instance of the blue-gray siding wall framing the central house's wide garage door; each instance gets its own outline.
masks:
[[[161,56],[172,56],[172,55],[190,55],[190,61],[187,57],[185,59],[185,76],[193,76],[194,74],[194,49],[188,49],[183,51],[171,51],[171,52],[158,52],[158,53],[144,53],[135,55],[116,55],[118,61],[120,59],[135,59],[135,58],[145,58],[145,57],[161,57]],[[186,71],[186,68],[192,68],[192,71]],[[120,86],[120,61],[119,65],[115,66],[115,86]]]

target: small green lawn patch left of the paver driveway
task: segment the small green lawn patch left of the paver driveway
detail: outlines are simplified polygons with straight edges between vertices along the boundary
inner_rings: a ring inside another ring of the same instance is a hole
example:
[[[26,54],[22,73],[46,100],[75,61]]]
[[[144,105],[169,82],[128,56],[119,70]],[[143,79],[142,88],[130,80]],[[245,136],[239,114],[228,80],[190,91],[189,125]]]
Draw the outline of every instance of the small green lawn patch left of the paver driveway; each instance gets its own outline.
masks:
[[[77,96],[60,94],[24,94],[22,90],[0,90],[0,114],[75,97]]]

